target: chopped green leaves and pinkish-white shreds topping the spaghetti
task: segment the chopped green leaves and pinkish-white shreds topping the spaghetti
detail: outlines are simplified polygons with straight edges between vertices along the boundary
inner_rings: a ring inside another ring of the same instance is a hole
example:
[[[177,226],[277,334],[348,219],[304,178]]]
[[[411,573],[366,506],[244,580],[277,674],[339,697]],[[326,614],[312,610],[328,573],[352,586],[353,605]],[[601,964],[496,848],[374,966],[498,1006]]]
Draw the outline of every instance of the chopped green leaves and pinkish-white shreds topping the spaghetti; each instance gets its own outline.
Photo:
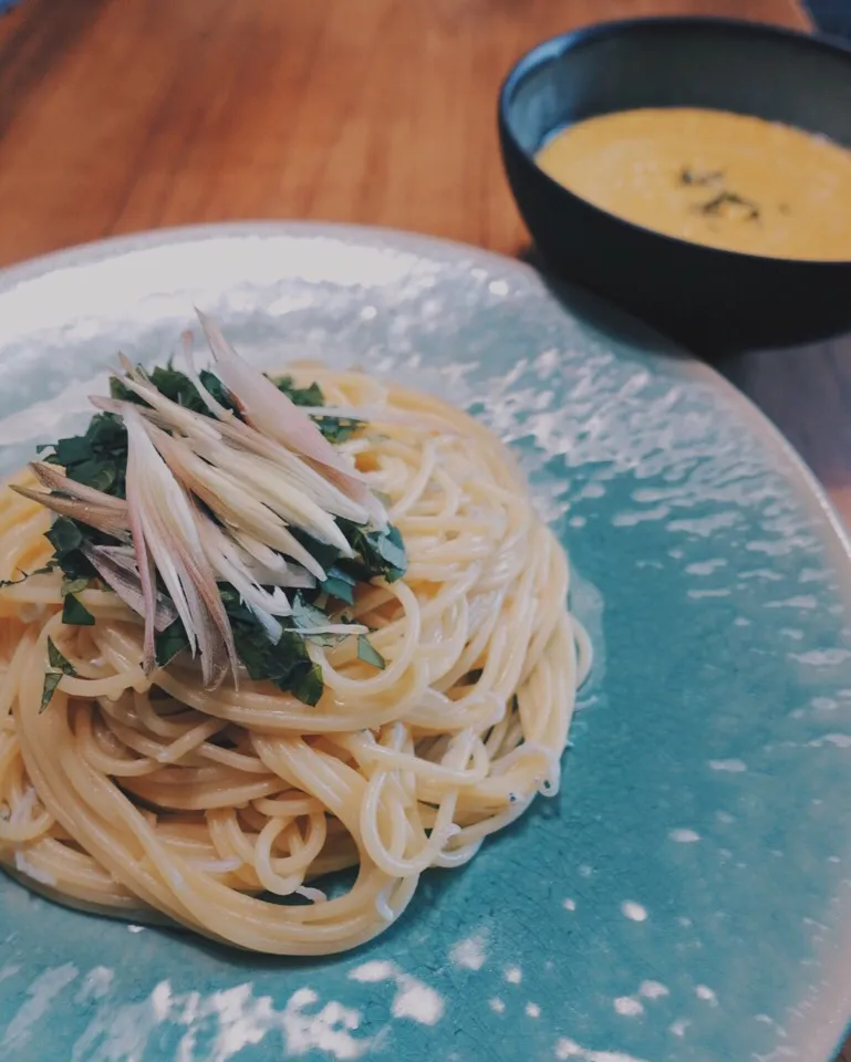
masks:
[[[96,580],[144,621],[146,674],[188,650],[208,689],[238,684],[241,665],[315,705],[310,641],[356,637],[360,659],[384,666],[344,606],[360,583],[404,575],[402,537],[334,449],[363,421],[322,412],[318,384],[270,379],[201,323],[216,372],[196,372],[190,334],[186,373],[122,358],[86,431],[39,448],[46,492],[13,489],[58,513],[65,623],[94,623],[76,594]]]

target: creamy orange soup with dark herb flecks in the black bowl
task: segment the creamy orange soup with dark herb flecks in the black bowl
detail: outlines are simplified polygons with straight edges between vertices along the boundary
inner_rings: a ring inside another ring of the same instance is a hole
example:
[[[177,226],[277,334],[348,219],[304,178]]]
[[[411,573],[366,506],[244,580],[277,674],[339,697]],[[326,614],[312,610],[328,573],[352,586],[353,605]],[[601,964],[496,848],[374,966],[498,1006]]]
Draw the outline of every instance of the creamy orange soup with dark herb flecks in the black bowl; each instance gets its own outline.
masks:
[[[770,258],[851,259],[851,150],[750,115],[620,111],[557,133],[536,162],[667,236]]]

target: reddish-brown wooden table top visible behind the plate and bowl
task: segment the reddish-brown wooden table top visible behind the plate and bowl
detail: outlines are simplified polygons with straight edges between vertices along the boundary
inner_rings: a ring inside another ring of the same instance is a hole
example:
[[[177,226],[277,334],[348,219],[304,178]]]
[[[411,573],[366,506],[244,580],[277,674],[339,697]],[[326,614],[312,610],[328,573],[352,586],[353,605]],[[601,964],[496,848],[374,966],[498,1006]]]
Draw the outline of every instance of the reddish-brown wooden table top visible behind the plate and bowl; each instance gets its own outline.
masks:
[[[0,266],[238,218],[516,254],[501,76],[551,33],[660,13],[809,24],[796,0],[23,0],[0,20]],[[837,343],[748,355],[730,375],[851,521],[848,365]]]

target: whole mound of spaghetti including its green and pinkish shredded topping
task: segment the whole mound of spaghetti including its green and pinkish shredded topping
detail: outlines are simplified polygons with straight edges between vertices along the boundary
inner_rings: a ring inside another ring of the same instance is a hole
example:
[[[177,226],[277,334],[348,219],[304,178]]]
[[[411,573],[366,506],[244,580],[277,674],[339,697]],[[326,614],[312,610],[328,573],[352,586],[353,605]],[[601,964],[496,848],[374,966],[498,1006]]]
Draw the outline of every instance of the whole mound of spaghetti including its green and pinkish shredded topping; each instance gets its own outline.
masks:
[[[267,376],[201,324],[210,368],[189,336],[122,360],[0,487],[0,867],[344,951],[556,794],[590,646],[484,425],[361,372]]]

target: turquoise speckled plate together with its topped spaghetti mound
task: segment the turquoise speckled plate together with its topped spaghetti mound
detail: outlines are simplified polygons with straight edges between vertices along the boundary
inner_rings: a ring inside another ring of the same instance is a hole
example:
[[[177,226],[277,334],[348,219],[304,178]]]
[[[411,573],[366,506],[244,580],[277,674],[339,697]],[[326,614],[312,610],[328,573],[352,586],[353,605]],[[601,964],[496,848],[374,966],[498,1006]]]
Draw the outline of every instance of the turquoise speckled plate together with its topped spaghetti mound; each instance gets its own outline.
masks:
[[[525,266],[216,226],[0,274],[0,1052],[831,1058],[849,549]]]

